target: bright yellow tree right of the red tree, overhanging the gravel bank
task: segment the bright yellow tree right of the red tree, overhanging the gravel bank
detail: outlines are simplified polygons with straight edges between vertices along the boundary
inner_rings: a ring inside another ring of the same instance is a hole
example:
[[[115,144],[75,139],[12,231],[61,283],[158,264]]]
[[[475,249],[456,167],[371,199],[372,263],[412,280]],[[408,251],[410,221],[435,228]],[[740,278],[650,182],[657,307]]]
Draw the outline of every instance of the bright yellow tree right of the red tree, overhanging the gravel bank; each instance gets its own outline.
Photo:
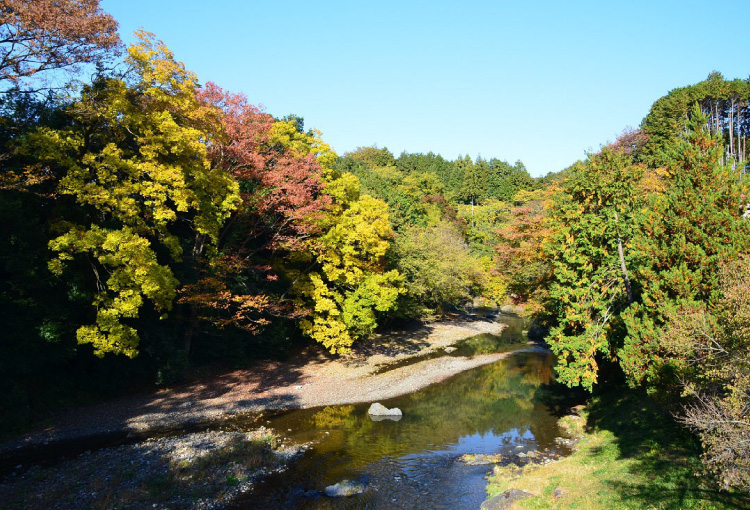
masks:
[[[384,270],[393,237],[386,203],[360,195],[350,173],[326,175],[333,205],[325,233],[311,243],[317,270],[299,285],[300,295],[312,301],[301,327],[330,352],[345,353],[375,331],[377,313],[393,309],[405,290],[398,271]]]

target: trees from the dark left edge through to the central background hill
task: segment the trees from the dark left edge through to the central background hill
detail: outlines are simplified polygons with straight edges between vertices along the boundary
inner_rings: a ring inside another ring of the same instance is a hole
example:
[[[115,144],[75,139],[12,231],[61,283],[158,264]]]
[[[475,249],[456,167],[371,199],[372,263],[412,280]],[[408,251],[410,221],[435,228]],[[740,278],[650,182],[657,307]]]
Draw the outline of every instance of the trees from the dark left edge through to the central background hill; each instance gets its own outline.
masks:
[[[0,425],[505,298],[520,162],[337,156],[95,0],[0,13]],[[76,71],[95,70],[89,81]]]

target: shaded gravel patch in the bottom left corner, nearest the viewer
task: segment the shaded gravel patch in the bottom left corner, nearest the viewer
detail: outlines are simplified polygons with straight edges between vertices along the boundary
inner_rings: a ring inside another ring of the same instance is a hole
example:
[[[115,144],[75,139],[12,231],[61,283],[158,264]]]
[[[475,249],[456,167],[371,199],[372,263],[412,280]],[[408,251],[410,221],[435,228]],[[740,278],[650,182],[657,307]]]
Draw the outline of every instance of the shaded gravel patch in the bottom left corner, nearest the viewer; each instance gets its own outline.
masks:
[[[223,508],[306,445],[271,431],[205,431],[86,452],[52,466],[19,466],[0,482],[0,507]]]

